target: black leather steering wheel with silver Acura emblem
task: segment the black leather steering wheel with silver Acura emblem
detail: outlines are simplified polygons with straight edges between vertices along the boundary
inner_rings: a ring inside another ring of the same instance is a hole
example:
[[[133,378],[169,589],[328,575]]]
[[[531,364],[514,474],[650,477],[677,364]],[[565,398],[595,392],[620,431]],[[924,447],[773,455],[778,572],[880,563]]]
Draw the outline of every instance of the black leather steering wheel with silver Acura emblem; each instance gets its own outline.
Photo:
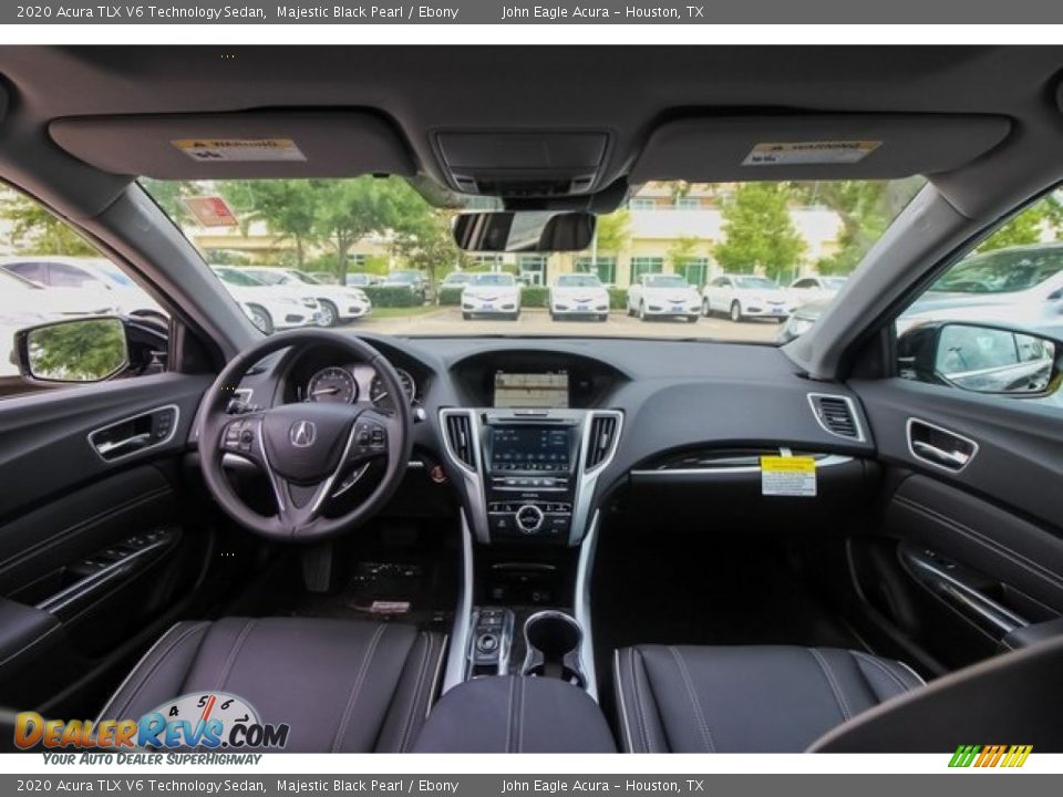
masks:
[[[388,392],[396,396],[394,412],[368,402],[354,404],[299,403],[254,410],[237,415],[226,410],[233,391],[256,363],[281,349],[296,351],[328,345],[352,355],[376,371]],[[373,517],[405,474],[413,445],[413,414],[395,369],[373,346],[358,338],[326,330],[296,330],[265,339],[238,354],[218,374],[199,413],[199,465],[207,488],[234,520],[271,539],[318,541],[350,531]],[[236,494],[223,468],[226,454],[255,463],[272,485],[277,514],[255,511]],[[326,517],[330,498],[343,474],[384,463],[380,483],[350,511]]]

